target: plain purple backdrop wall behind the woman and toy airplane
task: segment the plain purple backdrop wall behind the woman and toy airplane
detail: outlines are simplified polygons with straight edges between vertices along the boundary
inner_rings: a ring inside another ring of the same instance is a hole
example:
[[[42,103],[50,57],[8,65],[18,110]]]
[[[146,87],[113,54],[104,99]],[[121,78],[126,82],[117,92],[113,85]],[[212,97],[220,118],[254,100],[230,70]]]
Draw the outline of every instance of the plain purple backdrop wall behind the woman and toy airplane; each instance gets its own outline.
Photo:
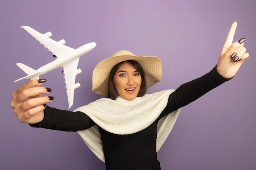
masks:
[[[162,60],[162,82],[148,93],[175,89],[207,73],[237,20],[234,40],[246,38],[249,59],[233,80],[182,108],[158,159],[163,170],[255,170],[255,17],[255,0],[2,0],[0,169],[105,169],[76,132],[31,128],[13,114],[11,93],[26,82],[13,82],[25,76],[16,63],[37,69],[54,60],[20,26],[51,31],[52,39],[64,38],[72,48],[97,42],[80,58],[83,72],[76,77],[81,87],[75,91],[74,110],[101,97],[91,92],[93,68],[119,50]],[[61,71],[41,77],[55,97],[49,106],[67,109]]]

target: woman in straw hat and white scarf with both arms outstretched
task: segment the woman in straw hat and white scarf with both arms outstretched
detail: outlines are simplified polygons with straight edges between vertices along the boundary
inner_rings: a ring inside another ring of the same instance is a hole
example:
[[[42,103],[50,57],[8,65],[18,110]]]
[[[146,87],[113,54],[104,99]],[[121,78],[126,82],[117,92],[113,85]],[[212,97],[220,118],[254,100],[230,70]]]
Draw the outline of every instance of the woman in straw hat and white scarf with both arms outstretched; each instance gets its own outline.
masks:
[[[161,79],[160,60],[118,51],[101,61],[92,75],[92,91],[107,98],[74,112],[58,110],[46,104],[54,97],[41,96],[51,91],[42,87],[46,80],[35,79],[13,92],[11,107],[19,121],[32,127],[78,131],[108,170],[160,170],[157,151],[180,108],[234,77],[249,57],[245,38],[232,43],[236,26],[231,26],[216,67],[176,91],[146,94]]]

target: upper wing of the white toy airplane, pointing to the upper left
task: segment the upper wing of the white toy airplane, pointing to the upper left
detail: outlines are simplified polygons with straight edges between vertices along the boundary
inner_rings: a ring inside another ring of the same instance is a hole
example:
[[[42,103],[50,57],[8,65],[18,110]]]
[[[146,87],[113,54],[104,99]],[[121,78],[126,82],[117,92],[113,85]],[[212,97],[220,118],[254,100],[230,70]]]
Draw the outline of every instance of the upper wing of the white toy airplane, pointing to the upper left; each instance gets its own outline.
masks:
[[[42,34],[29,26],[21,26],[21,28],[25,29],[28,33],[30,33],[34,38],[36,38],[36,40],[38,40],[47,49],[49,49],[49,51],[52,51],[52,53],[57,57],[63,57],[63,55],[74,51],[74,49],[63,45],[63,43],[65,42],[64,40],[57,42],[49,38],[52,35],[52,33],[50,32]]]

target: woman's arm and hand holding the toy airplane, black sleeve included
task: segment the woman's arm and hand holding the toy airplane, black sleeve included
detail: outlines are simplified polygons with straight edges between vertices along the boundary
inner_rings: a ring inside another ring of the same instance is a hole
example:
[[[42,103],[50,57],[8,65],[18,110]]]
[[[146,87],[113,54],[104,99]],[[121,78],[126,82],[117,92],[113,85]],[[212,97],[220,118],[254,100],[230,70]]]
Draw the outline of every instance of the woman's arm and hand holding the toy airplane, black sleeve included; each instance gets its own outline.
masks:
[[[84,113],[50,108],[46,103],[54,97],[42,97],[52,90],[42,87],[46,79],[34,79],[22,84],[12,93],[11,107],[18,120],[32,127],[62,131],[85,130],[95,123]]]

